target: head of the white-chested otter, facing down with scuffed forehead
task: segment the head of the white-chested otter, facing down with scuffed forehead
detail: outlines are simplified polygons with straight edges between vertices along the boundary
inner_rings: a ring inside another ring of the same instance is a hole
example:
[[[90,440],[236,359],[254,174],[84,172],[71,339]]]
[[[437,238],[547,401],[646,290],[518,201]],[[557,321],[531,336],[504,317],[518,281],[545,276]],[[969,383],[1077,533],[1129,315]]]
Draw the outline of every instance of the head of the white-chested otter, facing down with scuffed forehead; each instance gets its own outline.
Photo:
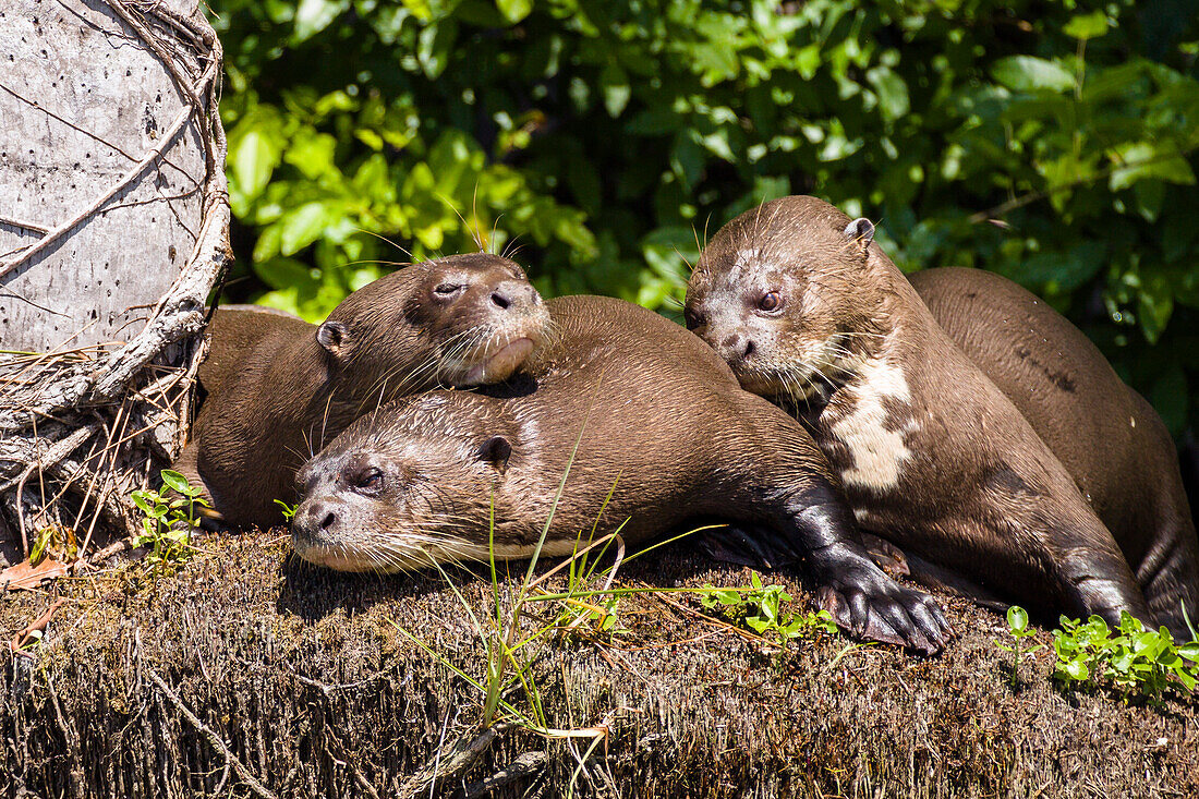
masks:
[[[785,197],[725,224],[687,286],[687,328],[755,394],[802,398],[836,383],[879,336],[884,282],[874,226],[814,197]]]

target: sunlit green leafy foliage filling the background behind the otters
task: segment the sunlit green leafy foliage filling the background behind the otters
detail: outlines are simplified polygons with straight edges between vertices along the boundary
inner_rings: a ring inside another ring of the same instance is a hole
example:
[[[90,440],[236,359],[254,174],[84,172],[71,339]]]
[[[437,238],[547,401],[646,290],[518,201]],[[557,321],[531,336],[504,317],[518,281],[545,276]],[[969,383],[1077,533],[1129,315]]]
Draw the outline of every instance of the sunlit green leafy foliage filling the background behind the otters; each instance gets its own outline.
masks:
[[[215,0],[234,240],[323,317],[478,241],[669,308],[735,214],[815,193],[905,270],[986,266],[1199,413],[1199,18],[1078,0]]]

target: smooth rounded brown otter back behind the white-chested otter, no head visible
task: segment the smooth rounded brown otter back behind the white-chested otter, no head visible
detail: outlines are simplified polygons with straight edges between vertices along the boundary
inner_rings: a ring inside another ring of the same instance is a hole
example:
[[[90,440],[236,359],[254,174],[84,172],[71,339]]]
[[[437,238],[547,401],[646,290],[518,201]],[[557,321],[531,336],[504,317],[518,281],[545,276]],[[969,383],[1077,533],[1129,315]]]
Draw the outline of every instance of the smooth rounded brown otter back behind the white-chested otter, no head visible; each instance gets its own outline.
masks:
[[[1199,624],[1199,540],[1179,456],[1153,407],[1031,292],[978,269],[908,280],[941,329],[1066,467],[1132,566],[1153,618]]]

